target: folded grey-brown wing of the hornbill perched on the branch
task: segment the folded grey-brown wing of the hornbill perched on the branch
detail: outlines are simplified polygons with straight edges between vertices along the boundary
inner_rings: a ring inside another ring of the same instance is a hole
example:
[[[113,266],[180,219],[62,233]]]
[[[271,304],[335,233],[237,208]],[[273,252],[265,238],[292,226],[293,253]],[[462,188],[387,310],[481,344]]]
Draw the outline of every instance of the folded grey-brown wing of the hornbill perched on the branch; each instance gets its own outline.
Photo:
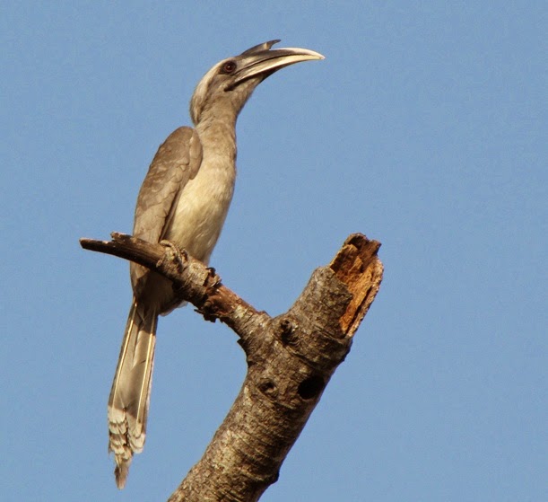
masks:
[[[139,190],[135,207],[134,235],[160,242],[177,207],[178,198],[202,163],[202,144],[193,128],[178,128],[162,143]],[[132,283],[147,269],[132,264]]]

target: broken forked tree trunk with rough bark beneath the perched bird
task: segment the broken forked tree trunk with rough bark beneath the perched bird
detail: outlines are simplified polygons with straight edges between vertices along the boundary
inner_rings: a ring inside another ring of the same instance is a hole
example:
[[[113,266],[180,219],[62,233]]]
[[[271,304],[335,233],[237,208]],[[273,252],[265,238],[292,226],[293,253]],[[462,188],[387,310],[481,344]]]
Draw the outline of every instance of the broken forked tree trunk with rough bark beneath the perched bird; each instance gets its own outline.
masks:
[[[326,267],[316,269],[287,313],[258,312],[213,269],[169,243],[152,244],[113,233],[110,242],[81,239],[84,249],[107,252],[155,269],[209,321],[239,336],[248,374],[204,456],[169,502],[258,500],[320,400],[352,337],[378,293],[380,243],[354,233]]]

